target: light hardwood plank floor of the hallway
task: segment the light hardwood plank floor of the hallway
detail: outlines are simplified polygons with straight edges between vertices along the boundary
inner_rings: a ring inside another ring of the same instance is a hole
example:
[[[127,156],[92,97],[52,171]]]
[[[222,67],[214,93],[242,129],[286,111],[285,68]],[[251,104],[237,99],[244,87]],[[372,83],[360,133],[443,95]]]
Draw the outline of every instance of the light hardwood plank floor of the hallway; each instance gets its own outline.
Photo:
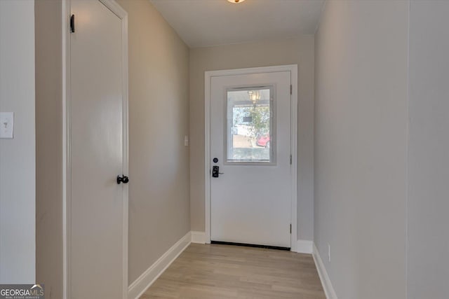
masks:
[[[191,244],[140,297],[326,299],[309,254]]]

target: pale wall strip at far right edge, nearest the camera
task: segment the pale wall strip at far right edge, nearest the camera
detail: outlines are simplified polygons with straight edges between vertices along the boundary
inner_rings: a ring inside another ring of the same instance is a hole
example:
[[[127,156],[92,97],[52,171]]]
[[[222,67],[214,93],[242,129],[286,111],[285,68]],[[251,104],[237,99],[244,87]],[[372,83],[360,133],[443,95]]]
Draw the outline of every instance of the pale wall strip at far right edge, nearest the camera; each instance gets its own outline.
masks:
[[[410,2],[408,298],[449,294],[449,2]]]

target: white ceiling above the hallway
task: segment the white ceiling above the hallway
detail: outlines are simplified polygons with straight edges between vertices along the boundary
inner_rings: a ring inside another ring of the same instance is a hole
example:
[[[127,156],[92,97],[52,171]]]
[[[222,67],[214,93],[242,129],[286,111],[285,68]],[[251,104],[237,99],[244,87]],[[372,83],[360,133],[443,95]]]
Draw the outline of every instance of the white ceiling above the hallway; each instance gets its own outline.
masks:
[[[325,0],[150,0],[191,48],[314,34]]]

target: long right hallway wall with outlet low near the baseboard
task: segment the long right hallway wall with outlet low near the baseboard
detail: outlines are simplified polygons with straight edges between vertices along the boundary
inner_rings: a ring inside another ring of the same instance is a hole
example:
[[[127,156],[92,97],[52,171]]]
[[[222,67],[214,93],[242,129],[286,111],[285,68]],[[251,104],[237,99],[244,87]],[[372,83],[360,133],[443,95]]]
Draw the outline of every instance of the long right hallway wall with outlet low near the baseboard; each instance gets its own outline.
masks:
[[[328,1],[316,34],[314,242],[338,298],[406,298],[407,36],[407,1]]]

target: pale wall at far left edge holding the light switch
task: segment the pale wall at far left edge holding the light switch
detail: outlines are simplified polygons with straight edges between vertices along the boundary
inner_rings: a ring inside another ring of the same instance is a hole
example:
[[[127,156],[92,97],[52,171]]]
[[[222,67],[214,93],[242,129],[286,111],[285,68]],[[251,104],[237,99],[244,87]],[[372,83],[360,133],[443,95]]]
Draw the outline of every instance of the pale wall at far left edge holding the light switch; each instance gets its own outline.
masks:
[[[34,0],[0,1],[0,111],[14,139],[0,139],[0,283],[34,283]]]

